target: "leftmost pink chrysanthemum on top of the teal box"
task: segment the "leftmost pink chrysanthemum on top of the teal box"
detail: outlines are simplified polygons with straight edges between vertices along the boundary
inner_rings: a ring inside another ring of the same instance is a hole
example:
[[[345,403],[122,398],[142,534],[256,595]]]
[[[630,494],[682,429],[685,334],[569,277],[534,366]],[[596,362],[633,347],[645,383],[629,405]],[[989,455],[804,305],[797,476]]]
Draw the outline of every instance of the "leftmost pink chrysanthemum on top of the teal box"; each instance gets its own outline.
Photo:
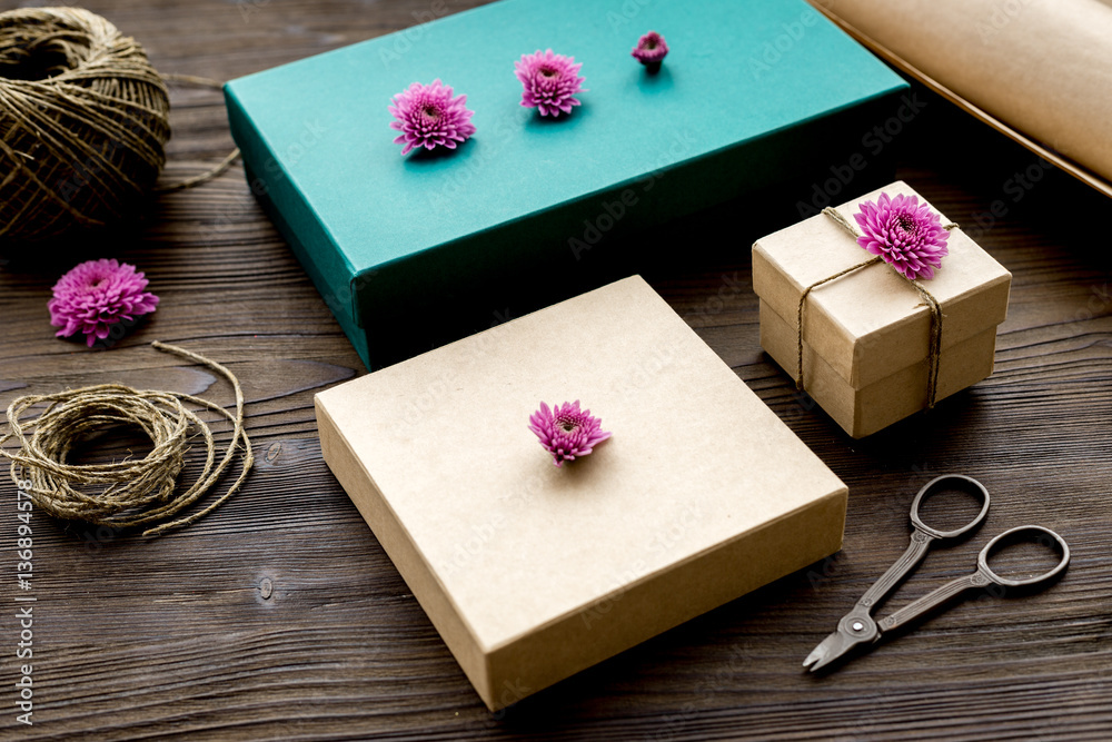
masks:
[[[390,128],[401,132],[394,144],[405,142],[403,155],[418,147],[455,149],[457,142],[467,141],[475,133],[470,123],[475,111],[464,107],[467,96],[453,98],[451,88],[439,78],[433,85],[414,82],[394,96],[393,101],[389,110],[397,121],[391,121]]]

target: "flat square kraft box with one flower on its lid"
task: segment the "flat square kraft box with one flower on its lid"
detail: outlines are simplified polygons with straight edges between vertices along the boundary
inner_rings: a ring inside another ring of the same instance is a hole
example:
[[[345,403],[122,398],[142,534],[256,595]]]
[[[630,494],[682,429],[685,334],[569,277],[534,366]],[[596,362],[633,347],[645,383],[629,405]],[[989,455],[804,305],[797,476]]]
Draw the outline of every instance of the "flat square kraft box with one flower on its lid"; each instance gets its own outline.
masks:
[[[613,437],[557,468],[579,399]],[[325,459],[492,710],[837,551],[846,487],[639,277],[316,397]]]

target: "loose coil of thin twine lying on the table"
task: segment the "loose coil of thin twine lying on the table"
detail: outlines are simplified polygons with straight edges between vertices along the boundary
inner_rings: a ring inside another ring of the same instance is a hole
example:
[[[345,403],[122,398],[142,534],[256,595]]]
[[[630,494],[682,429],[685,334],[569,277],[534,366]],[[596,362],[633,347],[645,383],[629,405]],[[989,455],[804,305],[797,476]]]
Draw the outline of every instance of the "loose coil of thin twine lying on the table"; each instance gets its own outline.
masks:
[[[157,536],[203,517],[231,497],[247,478],[255,462],[251,443],[244,429],[244,392],[235,374],[220,364],[165,343],[152,343],[156,349],[172,353],[201,364],[227,378],[236,392],[232,414],[207,399],[179,392],[138,390],[120,384],[100,384],[57,394],[28,395],[8,407],[10,432],[0,437],[0,455],[11,461],[11,478],[31,501],[47,513],[66,520],[79,520],[116,528],[146,526],[172,517],[200,499],[231,464],[241,449],[244,467],[228,491],[196,513],[162,523],[143,532]],[[231,443],[216,462],[217,445],[209,426],[183,403],[200,405],[219,413],[234,429]],[[47,408],[34,421],[21,416],[34,405]],[[110,464],[70,464],[67,458],[89,434],[118,425],[138,426],[153,443],[141,459],[125,459]],[[34,433],[28,435],[29,428]],[[205,467],[197,481],[175,497],[178,474],[185,466],[190,428],[205,439]],[[3,451],[3,444],[14,438],[20,449]],[[26,476],[20,476],[21,474]],[[103,487],[95,494],[82,488]]]

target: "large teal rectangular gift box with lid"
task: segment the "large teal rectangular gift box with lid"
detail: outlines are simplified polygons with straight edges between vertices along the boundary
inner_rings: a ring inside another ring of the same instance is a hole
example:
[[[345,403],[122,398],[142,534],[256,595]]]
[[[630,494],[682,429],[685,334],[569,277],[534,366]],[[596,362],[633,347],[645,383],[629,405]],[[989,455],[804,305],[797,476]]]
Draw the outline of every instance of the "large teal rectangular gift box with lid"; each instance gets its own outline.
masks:
[[[629,53],[648,30],[671,48],[656,73]],[[520,106],[514,75],[549,48],[586,88],[557,119]],[[387,106],[437,78],[476,133],[403,157]],[[905,88],[801,0],[502,0],[225,92],[252,191],[377,368],[504,319],[503,290],[547,303],[607,280],[618,235],[671,249],[647,230],[822,182]]]

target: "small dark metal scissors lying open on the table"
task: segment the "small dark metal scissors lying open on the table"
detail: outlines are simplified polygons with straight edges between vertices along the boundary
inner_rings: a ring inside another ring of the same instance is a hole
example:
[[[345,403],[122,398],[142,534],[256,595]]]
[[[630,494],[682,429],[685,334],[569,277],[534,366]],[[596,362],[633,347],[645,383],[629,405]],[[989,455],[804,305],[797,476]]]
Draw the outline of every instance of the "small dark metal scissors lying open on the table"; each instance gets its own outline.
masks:
[[[962,489],[979,497],[983,503],[981,512],[961,528],[954,531],[932,528],[923,523],[919,514],[919,508],[924,497],[939,489]],[[815,672],[820,667],[825,667],[835,660],[845,656],[855,647],[880,641],[881,636],[885,633],[900,629],[947,601],[956,598],[967,590],[985,587],[990,584],[1003,587],[1036,585],[1053,580],[1065,570],[1070,563],[1070,546],[1065,541],[1050,528],[1037,525],[1021,525],[1000,534],[981,550],[981,554],[976,561],[977,566],[973,574],[964,575],[946,583],[934,592],[927,593],[923,597],[900,609],[892,615],[882,619],[880,622],[873,620],[872,613],[877,603],[883,601],[923,561],[931,546],[936,543],[952,541],[973,531],[981,525],[987,513],[989,491],[976,479],[960,474],[947,474],[927,482],[919,491],[919,494],[915,495],[915,499],[911,505],[911,523],[914,531],[911,534],[911,543],[907,545],[907,551],[861,596],[861,600],[853,606],[853,610],[842,617],[837,630],[824,639],[807,655],[807,659],[803,661],[803,666],[811,672]],[[1022,537],[1030,535],[1035,535],[1040,543],[1049,541],[1056,545],[1062,554],[1062,558],[1058,565],[1043,574],[1022,580],[1002,577],[993,572],[992,567],[989,566],[989,556],[994,552],[996,546],[1013,541],[1021,541]]]

